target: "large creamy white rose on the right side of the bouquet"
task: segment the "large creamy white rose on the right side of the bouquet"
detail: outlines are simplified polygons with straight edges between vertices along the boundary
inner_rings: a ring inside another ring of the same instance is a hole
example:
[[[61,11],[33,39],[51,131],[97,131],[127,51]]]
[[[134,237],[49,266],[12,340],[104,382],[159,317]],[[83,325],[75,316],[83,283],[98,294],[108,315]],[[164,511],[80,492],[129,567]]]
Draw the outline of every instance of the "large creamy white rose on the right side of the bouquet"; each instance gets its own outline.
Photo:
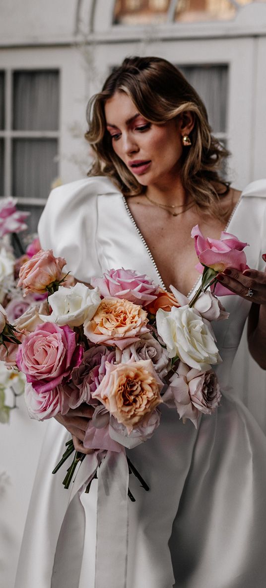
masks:
[[[156,325],[170,358],[179,356],[191,368],[204,371],[221,362],[211,326],[197,310],[188,305],[173,306],[170,312],[159,309]]]

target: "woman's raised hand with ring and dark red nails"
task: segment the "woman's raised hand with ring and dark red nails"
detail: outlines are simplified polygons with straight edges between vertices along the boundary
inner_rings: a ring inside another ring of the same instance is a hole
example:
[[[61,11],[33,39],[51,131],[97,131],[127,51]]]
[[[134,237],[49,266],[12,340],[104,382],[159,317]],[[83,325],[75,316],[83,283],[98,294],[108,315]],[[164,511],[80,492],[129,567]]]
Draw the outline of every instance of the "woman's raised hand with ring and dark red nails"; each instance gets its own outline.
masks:
[[[231,290],[238,296],[255,302],[266,304],[266,272],[259,272],[257,269],[245,269],[241,273],[237,269],[227,268],[223,273],[218,273],[218,282],[225,288]],[[251,292],[251,296],[248,295]]]

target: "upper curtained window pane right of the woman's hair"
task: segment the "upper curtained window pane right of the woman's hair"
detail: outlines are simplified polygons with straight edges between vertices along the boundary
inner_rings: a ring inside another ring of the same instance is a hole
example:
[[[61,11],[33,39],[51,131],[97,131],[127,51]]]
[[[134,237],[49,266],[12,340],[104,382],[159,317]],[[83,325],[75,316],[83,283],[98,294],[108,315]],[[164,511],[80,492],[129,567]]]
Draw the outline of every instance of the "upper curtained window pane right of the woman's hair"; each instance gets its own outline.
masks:
[[[227,65],[178,66],[203,100],[214,133],[227,127]]]

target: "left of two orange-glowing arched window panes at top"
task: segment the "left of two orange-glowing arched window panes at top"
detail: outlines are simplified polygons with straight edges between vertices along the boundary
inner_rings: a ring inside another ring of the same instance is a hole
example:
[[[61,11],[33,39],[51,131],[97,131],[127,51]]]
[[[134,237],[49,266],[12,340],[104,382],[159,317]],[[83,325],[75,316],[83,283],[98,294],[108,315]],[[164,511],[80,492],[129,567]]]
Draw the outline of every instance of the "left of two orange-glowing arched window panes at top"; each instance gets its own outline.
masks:
[[[116,0],[113,22],[145,25],[166,22],[170,0]]]

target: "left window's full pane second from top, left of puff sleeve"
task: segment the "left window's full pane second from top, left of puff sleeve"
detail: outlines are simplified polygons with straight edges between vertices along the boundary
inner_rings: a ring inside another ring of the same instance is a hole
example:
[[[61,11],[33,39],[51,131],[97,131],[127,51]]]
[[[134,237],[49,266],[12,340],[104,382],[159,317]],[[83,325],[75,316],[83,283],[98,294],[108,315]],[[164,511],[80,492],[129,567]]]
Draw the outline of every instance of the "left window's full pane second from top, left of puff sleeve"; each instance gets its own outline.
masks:
[[[56,139],[16,139],[13,142],[13,196],[47,198],[58,176]]]

